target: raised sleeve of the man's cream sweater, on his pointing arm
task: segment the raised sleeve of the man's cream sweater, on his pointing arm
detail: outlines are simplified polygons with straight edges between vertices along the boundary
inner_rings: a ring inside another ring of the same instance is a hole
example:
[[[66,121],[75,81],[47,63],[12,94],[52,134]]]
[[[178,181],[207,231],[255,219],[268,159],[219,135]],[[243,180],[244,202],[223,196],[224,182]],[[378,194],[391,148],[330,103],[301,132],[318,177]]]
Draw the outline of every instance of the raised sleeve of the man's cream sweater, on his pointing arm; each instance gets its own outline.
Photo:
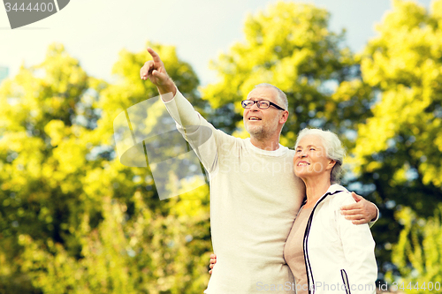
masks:
[[[225,145],[232,143],[233,137],[215,129],[178,90],[173,99],[164,102],[164,105],[204,168],[210,173],[216,170],[219,153],[223,148],[228,149]]]

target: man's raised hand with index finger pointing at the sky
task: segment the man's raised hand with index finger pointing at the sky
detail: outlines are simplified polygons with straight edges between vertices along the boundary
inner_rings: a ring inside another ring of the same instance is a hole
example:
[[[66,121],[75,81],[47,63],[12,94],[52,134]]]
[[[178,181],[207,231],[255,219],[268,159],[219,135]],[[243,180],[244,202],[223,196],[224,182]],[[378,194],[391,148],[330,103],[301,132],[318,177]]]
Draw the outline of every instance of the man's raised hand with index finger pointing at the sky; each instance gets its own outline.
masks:
[[[150,79],[160,94],[171,93],[171,98],[173,98],[177,94],[177,87],[167,75],[163,61],[153,49],[148,48],[148,52],[153,60],[149,60],[141,67],[141,79]],[[167,101],[171,100],[171,98],[167,99]]]

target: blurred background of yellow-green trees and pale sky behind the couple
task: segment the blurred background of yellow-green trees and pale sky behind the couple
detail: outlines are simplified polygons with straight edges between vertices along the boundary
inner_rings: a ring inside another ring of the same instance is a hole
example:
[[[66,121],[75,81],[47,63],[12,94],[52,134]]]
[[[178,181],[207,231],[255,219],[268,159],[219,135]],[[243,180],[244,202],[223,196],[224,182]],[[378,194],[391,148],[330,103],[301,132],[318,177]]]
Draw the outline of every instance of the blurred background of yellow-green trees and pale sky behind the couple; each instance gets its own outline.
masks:
[[[247,135],[239,102],[268,82],[283,145],[339,133],[343,185],[380,209],[379,283],[442,292],[442,0],[78,0],[14,30],[0,11],[0,35],[0,293],[205,289],[208,185],[160,201],[115,149],[115,117],[157,95],[147,46],[225,132]]]

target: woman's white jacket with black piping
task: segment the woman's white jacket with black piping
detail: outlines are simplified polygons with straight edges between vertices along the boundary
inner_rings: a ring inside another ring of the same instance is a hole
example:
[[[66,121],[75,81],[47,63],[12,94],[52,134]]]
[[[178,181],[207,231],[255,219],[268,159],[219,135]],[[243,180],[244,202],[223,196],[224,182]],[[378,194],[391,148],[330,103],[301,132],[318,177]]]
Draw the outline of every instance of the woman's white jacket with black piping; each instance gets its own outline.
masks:
[[[304,234],[309,293],[376,293],[375,242],[368,224],[354,225],[339,208],[354,203],[341,185],[316,202]]]

